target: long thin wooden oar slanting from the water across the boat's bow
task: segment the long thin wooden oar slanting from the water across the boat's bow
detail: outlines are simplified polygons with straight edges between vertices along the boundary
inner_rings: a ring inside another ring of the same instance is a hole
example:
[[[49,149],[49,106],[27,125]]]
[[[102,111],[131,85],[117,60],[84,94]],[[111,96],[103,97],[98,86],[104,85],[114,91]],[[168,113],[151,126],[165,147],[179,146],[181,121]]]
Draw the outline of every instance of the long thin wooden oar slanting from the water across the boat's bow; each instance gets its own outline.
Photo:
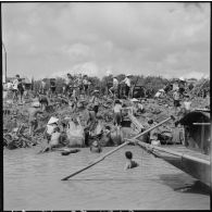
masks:
[[[165,122],[167,122],[167,121],[170,121],[170,120],[174,120],[174,116],[167,117],[166,120],[164,120],[164,121],[160,122],[159,124],[157,124],[157,125],[150,127],[149,129],[147,129],[147,130],[140,133],[139,135],[135,136],[135,137],[132,138],[132,139],[136,139],[136,138],[138,138],[138,137],[140,137],[140,136],[142,136],[142,135],[145,135],[145,134],[147,134],[147,133],[149,133],[150,130],[157,128],[158,126],[162,125],[163,123],[165,123]],[[83,167],[83,169],[80,169],[80,170],[74,172],[73,174],[71,174],[71,175],[68,175],[68,176],[66,176],[66,177],[64,177],[64,178],[62,178],[61,180],[67,180],[68,178],[75,176],[76,174],[79,174],[80,172],[83,172],[83,171],[85,171],[85,170],[87,170],[87,169],[93,166],[95,164],[99,163],[99,162],[102,161],[104,158],[107,158],[108,155],[110,155],[110,154],[112,154],[113,152],[117,151],[119,149],[125,147],[125,146],[128,145],[129,142],[130,142],[130,141],[125,141],[124,144],[122,144],[122,145],[120,145],[119,147],[116,147],[115,149],[113,149],[113,150],[107,152],[105,154],[103,154],[102,157],[100,157],[99,159],[97,159],[96,161],[93,161],[92,163],[90,163],[90,164],[88,164],[87,166],[85,166],[85,167]]]

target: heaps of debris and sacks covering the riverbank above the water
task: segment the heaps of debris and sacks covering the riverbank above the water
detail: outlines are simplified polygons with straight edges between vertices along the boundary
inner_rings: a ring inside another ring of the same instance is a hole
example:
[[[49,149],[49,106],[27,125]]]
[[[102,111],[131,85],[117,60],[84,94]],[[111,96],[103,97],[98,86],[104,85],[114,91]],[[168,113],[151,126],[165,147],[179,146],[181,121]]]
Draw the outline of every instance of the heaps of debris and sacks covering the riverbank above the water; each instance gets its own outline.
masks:
[[[186,89],[185,93],[192,97],[191,109],[210,107],[210,82],[204,79],[199,82],[192,89]],[[137,133],[145,130],[149,127],[148,121],[153,120],[159,123],[162,120],[174,114],[174,105],[172,98],[173,90],[169,90],[165,95],[153,98],[138,98],[142,104],[142,111],[136,117],[128,116],[128,111],[132,110],[133,102],[127,99],[122,99],[122,121],[127,125],[130,123],[133,129]],[[202,95],[203,93],[203,95]],[[90,96],[79,97],[77,100],[74,98],[66,98],[62,95],[54,96],[50,99],[49,105],[46,111],[38,116],[38,126],[34,132],[34,136],[29,135],[28,113],[27,109],[30,102],[38,101],[37,98],[29,96],[25,99],[23,104],[13,104],[12,100],[3,102],[3,144],[8,149],[27,148],[46,140],[46,128],[48,121],[53,116],[59,119],[59,126],[65,126],[66,129],[62,130],[63,144],[66,147],[85,147],[86,146],[86,122],[88,112],[86,110],[90,102]],[[182,99],[183,101],[183,99]],[[89,142],[98,140],[101,146],[113,146],[123,142],[123,137],[126,135],[122,128],[114,125],[113,113],[114,99],[109,96],[99,97],[99,110],[97,113],[97,123],[93,134],[89,137]],[[137,119],[137,121],[135,120]],[[134,120],[132,122],[132,120]],[[123,124],[123,126],[125,125]],[[140,124],[140,125],[139,125]],[[176,140],[175,127],[173,122],[167,122],[158,128],[160,140],[162,144],[172,142]],[[180,129],[179,129],[180,130]],[[66,135],[65,135],[66,134]],[[144,138],[145,139],[145,138]]]

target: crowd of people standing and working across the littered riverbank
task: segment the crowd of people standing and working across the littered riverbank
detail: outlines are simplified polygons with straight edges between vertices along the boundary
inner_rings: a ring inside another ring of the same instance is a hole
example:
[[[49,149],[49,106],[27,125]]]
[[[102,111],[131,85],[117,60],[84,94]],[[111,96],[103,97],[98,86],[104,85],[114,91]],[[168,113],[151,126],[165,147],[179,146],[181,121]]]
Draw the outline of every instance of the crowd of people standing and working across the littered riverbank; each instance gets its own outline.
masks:
[[[98,112],[99,107],[102,103],[101,101],[101,93],[100,90],[93,89],[90,90],[89,86],[91,83],[89,82],[89,77],[87,75],[78,74],[76,76],[72,76],[70,73],[66,74],[64,78],[64,84],[62,85],[62,96],[67,100],[68,105],[72,109],[72,113],[75,112],[77,109],[78,103],[80,103],[79,100],[87,98],[88,104],[86,107],[87,111],[87,120],[86,125],[84,127],[85,129],[85,145],[89,146],[88,138],[90,135],[92,135],[92,132],[97,127],[98,123]],[[113,76],[113,85],[112,87],[108,87],[108,95],[110,98],[113,99],[113,124],[115,127],[121,128],[121,123],[123,120],[123,98],[120,97],[120,87],[121,85],[124,85],[124,99],[127,99],[130,101],[130,112],[133,115],[139,115],[144,112],[144,105],[141,103],[141,100],[138,100],[136,98],[133,98],[132,96],[132,75],[127,74],[123,80],[117,79],[117,77]],[[25,85],[22,82],[22,78],[20,75],[15,76],[15,79],[13,82],[8,82],[7,84],[8,89],[13,92],[13,102],[22,102],[23,103],[23,95],[25,91]],[[163,89],[160,89],[155,93],[155,98],[160,98],[162,93],[167,93],[167,91],[172,90],[172,98],[173,98],[173,105],[175,110],[175,114],[177,115],[178,112],[188,113],[190,111],[191,105],[191,98],[188,95],[185,95],[185,79],[179,78],[175,84],[172,85],[172,88],[170,85],[165,86]],[[38,126],[38,114],[42,114],[47,107],[50,104],[50,99],[52,97],[57,97],[57,83],[54,78],[50,78],[50,86],[47,85],[47,79],[42,79],[39,91],[38,91],[38,101],[33,102],[32,107],[28,110],[29,114],[29,135],[33,137],[35,134],[35,129]],[[183,102],[182,102],[183,100]],[[183,105],[183,107],[182,107]],[[51,123],[51,124],[55,124]],[[50,124],[50,125],[51,125]],[[148,123],[151,127],[151,122]],[[52,136],[53,133],[59,134],[59,129],[51,130],[51,133],[48,133],[49,137]],[[65,128],[65,124],[63,124],[63,129]],[[47,130],[49,132],[49,130]],[[48,137],[48,136],[47,136]],[[48,137],[48,138],[49,138]],[[54,138],[54,137],[52,137]],[[55,139],[55,138],[54,138]],[[51,140],[51,139],[50,139]],[[49,141],[50,141],[49,140]],[[152,132],[150,135],[150,141],[152,145],[160,145],[160,140],[158,140],[158,135],[155,132]],[[54,141],[52,142],[54,144]],[[93,144],[93,147],[91,149],[98,149],[96,145]],[[98,150],[100,151],[100,150]]]

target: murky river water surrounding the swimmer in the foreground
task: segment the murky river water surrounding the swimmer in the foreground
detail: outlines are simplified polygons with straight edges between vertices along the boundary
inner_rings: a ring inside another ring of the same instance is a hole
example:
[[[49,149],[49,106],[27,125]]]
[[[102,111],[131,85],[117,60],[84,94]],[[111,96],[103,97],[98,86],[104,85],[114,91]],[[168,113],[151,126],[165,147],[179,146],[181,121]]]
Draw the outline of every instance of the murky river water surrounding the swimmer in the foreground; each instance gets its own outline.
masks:
[[[66,182],[60,179],[101,154],[37,150],[4,150],[4,210],[210,209],[210,195],[196,179],[139,147],[120,149]],[[138,167],[124,171],[126,150]]]

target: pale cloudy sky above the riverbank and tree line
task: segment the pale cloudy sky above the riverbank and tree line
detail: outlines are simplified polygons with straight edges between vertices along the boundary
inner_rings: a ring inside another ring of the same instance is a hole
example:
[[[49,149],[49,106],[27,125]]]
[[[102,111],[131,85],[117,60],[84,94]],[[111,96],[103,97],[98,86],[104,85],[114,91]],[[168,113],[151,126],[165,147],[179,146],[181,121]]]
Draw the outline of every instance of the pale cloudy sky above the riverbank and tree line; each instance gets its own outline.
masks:
[[[210,13],[190,2],[2,3],[8,76],[200,78],[210,75]]]

